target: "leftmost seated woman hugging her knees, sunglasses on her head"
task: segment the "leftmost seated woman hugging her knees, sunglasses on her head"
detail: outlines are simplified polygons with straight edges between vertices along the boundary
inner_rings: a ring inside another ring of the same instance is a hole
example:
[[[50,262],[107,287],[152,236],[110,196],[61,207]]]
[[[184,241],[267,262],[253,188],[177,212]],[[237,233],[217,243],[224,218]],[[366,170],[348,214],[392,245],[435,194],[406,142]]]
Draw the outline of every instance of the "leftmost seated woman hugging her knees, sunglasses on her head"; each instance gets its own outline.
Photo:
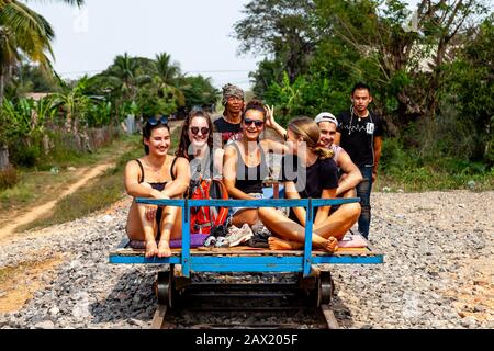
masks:
[[[150,117],[143,128],[145,156],[125,167],[125,189],[133,197],[178,199],[189,186],[189,161],[168,155],[170,128],[166,117]],[[127,217],[131,247],[145,248],[146,257],[171,256],[170,239],[181,237],[176,225],[181,208],[132,202]],[[156,242],[158,240],[158,244]]]

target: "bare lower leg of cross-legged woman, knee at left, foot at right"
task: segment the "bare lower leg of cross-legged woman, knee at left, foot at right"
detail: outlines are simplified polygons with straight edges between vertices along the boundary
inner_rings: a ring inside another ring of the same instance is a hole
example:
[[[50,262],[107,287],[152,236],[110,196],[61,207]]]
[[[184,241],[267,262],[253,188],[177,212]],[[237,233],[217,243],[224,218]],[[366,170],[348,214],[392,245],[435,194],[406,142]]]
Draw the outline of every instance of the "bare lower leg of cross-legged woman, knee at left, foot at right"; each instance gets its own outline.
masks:
[[[303,242],[305,241],[305,228],[300,224],[287,218],[283,214],[272,207],[259,208],[259,218],[268,227],[269,230],[276,233],[282,239],[288,241]],[[335,240],[326,239],[317,235],[312,235],[312,244],[314,247],[321,248],[328,252],[336,249]]]

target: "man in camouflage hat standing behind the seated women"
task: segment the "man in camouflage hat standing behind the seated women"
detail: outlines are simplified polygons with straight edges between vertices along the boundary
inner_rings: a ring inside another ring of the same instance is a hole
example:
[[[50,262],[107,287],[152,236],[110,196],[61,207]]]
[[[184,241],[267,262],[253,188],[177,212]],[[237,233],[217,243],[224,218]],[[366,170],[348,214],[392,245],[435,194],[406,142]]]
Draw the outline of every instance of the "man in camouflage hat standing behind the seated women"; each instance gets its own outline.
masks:
[[[244,112],[244,90],[227,83],[223,87],[222,104],[225,106],[223,116],[214,121],[216,133],[221,133],[222,146],[228,140],[235,140],[242,135],[242,113]]]

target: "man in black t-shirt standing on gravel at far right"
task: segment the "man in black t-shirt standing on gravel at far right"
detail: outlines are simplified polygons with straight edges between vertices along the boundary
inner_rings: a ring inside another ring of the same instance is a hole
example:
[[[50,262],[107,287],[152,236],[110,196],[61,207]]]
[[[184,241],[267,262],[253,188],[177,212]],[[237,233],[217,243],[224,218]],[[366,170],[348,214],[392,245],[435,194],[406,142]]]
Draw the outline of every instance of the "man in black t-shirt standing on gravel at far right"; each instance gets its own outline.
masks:
[[[371,220],[370,193],[378,176],[383,121],[368,110],[372,102],[369,86],[357,83],[351,90],[351,102],[349,111],[338,115],[335,144],[348,152],[362,173],[363,180],[357,185],[357,196],[361,199],[362,206],[359,231],[368,238]]]

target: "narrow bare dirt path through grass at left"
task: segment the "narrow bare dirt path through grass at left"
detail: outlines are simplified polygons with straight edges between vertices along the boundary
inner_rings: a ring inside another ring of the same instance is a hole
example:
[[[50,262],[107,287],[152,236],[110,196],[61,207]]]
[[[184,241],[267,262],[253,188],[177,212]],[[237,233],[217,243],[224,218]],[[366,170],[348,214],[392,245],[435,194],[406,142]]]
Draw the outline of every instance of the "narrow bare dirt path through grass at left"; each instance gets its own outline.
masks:
[[[13,218],[13,220],[10,224],[0,229],[0,245],[2,244],[3,240],[11,237],[12,234],[15,233],[15,228],[18,228],[21,225],[31,223],[35,219],[38,219],[42,216],[48,214],[55,207],[55,205],[60,199],[75,193],[85,184],[87,184],[88,181],[104,173],[111,167],[114,167],[114,163],[98,165],[97,167],[91,168],[89,171],[85,171],[83,176],[76,183],[71,184],[67,190],[61,192],[57,196],[57,199],[52,200],[41,206],[34,207],[31,211]]]

